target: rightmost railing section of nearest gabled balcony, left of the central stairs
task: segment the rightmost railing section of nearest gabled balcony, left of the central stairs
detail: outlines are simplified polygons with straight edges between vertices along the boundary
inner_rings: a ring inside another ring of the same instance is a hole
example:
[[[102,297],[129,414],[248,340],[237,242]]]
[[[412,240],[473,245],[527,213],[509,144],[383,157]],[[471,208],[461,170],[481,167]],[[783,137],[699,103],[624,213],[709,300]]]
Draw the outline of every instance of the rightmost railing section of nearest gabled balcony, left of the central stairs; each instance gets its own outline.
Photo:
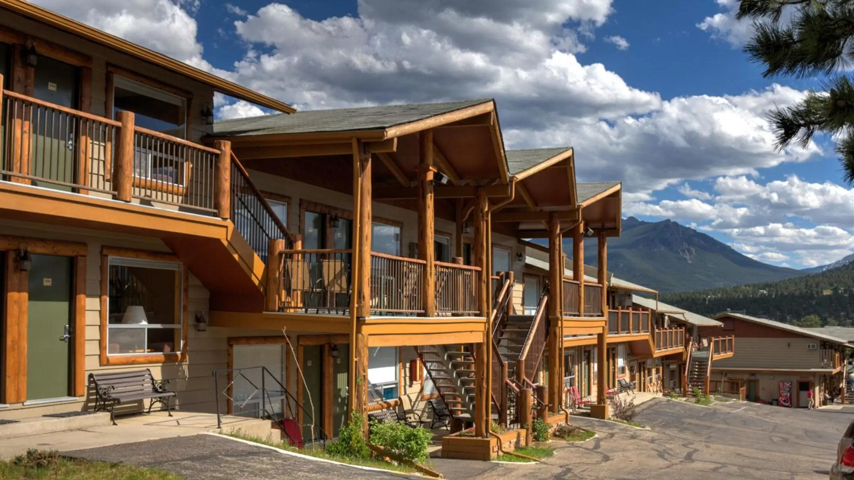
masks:
[[[477,286],[481,269],[459,263],[436,262],[436,314],[477,315]]]

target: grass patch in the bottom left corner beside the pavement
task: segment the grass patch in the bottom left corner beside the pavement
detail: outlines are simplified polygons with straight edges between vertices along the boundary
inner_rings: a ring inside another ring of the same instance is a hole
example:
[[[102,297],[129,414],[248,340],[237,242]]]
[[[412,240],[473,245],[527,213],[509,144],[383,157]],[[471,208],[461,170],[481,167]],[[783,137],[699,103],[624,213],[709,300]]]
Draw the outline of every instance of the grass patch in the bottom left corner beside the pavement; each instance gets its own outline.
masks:
[[[123,463],[67,459],[56,452],[30,450],[15,460],[0,461],[0,478],[83,480],[179,480],[168,471]]]

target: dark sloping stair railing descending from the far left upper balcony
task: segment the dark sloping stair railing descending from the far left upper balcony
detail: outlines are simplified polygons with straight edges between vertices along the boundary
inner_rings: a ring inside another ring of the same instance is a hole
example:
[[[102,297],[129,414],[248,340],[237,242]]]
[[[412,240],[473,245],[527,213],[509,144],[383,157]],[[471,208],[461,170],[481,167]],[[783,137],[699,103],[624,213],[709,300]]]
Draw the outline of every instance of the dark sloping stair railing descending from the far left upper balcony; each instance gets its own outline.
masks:
[[[231,153],[231,222],[255,253],[267,263],[270,240],[285,240],[285,249],[294,245],[294,236],[282,223],[237,155]]]

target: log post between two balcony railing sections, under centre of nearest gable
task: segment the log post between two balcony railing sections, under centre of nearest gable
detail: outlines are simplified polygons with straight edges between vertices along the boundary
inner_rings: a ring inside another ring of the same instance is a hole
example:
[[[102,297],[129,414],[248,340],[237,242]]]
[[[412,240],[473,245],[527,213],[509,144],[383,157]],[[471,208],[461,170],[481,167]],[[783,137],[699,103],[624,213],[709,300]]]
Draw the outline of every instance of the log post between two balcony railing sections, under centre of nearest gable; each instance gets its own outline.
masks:
[[[418,258],[424,260],[424,316],[436,316],[436,251],[433,237],[436,234],[436,219],[433,203],[433,130],[424,130],[418,136]]]

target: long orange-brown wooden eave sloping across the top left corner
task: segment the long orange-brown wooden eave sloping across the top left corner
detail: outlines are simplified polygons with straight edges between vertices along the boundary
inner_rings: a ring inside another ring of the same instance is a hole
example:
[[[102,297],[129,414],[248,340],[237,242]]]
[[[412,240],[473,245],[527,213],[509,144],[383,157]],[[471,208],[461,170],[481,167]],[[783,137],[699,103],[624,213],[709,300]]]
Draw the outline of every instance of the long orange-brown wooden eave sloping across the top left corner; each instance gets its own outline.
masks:
[[[278,101],[256,91],[249,90],[242,85],[235,84],[234,82],[230,82],[224,78],[219,78],[216,75],[204,72],[196,67],[190,67],[190,65],[187,65],[183,61],[177,61],[167,55],[162,55],[153,50],[141,47],[136,43],[128,42],[125,39],[115,37],[107,32],[102,32],[97,28],[87,26],[77,20],[72,20],[48,9],[43,9],[33,3],[29,3],[24,0],[0,0],[0,7],[9,9],[17,14],[25,15],[27,18],[37,20],[45,25],[52,26],[64,32],[72,33],[73,35],[85,38],[91,42],[105,45],[127,55],[132,55],[133,57],[147,61],[158,67],[163,67],[172,72],[176,72],[184,77],[192,78],[202,84],[210,85],[214,90],[225,95],[231,95],[240,100],[250,101],[260,105],[261,107],[272,108],[277,112],[296,112],[294,107],[284,103],[284,101]]]

